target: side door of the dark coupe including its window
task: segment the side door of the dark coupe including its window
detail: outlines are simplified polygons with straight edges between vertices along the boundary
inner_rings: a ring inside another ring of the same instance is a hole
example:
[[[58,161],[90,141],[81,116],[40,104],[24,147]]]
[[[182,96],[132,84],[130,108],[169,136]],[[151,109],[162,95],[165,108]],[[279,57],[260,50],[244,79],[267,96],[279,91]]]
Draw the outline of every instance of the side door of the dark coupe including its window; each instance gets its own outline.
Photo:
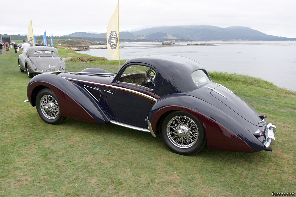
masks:
[[[128,64],[107,91],[106,111],[111,120],[147,128],[147,116],[154,99],[156,72],[145,64]]]

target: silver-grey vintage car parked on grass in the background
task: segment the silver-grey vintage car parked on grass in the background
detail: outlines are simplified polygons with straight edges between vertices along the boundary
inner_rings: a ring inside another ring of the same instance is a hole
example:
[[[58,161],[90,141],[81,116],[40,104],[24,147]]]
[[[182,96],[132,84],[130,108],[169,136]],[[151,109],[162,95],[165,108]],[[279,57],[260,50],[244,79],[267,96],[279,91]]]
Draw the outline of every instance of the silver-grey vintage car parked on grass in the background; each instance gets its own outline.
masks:
[[[34,73],[60,73],[66,71],[65,61],[59,57],[57,49],[47,46],[29,47],[26,54],[18,58],[20,71],[27,71],[28,77]]]

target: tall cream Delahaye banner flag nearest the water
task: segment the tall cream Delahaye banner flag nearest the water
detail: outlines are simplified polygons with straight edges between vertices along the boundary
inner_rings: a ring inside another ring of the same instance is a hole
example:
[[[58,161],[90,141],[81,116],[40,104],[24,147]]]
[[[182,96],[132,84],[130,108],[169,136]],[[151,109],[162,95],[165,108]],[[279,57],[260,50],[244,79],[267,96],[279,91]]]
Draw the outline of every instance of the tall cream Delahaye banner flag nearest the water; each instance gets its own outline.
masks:
[[[115,60],[119,60],[119,18],[118,4],[109,20],[107,27],[107,48],[108,54]]]

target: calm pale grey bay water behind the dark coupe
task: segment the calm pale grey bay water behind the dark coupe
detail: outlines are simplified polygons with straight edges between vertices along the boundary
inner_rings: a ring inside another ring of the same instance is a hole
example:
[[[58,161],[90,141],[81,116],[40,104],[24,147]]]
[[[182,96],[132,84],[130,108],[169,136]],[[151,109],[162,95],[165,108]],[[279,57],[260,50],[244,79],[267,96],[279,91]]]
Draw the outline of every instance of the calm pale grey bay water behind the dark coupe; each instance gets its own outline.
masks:
[[[278,87],[296,91],[296,41],[192,43],[203,45],[188,45],[191,44],[188,42],[177,45],[162,45],[157,42],[120,43],[120,59],[147,55],[184,56],[199,62],[207,71],[254,76]],[[76,52],[112,60],[107,49]]]

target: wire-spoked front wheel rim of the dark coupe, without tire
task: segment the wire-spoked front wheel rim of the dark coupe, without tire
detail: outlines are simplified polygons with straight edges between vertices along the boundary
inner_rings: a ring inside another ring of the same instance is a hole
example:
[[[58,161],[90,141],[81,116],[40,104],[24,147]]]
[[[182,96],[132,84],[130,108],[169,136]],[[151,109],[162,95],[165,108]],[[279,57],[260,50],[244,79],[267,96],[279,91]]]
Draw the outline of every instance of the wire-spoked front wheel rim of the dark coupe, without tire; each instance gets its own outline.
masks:
[[[55,119],[59,115],[59,105],[54,97],[44,95],[40,100],[40,108],[43,115],[48,119]]]

